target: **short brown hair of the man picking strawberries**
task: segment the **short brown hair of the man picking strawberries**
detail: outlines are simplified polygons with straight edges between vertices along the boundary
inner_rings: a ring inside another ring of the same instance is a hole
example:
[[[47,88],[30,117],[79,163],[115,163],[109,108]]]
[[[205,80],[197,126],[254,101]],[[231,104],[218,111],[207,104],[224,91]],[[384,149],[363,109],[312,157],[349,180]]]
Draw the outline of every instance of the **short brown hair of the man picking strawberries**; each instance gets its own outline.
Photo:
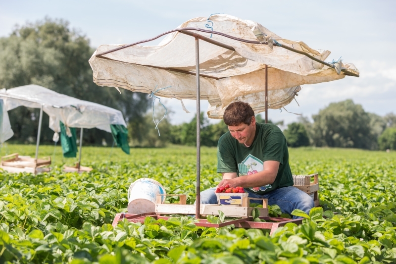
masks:
[[[254,111],[249,104],[244,102],[234,102],[224,110],[224,123],[228,126],[238,126],[241,123],[250,125]]]

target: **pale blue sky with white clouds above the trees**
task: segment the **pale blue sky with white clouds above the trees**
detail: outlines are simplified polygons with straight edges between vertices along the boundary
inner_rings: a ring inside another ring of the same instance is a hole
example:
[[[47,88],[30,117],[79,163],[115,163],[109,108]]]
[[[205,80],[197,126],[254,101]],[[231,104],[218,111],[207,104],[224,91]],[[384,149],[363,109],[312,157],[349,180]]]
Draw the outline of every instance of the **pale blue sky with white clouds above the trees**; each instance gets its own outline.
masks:
[[[67,20],[96,48],[152,38],[191,18],[226,13],[256,21],[282,38],[329,50],[327,61],[342,57],[359,69],[359,78],[303,85],[298,104],[285,106],[289,112],[311,118],[330,103],[352,99],[368,112],[385,115],[396,113],[395,10],[394,0],[0,0],[0,37],[8,36],[15,25],[49,17]],[[174,124],[190,121],[196,112],[193,100],[183,100],[189,114],[178,100],[161,102],[173,112]],[[207,106],[201,101],[201,111]],[[279,109],[269,109],[268,116],[285,124],[298,118]]]

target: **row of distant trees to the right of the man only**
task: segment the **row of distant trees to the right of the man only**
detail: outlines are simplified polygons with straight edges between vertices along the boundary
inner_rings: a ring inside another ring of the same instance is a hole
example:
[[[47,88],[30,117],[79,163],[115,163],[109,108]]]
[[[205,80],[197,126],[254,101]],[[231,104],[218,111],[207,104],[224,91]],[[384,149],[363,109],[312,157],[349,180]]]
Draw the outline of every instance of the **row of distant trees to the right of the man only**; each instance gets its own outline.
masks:
[[[284,134],[289,146],[396,150],[394,113],[380,116],[345,100],[321,109],[312,119],[301,117],[288,124]]]

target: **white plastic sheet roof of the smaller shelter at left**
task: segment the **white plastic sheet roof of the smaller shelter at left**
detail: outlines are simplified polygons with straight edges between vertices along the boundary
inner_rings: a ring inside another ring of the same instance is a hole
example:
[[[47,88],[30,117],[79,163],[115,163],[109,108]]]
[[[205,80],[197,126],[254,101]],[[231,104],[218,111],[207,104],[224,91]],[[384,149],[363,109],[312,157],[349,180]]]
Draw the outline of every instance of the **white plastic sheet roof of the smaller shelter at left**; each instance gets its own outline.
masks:
[[[31,84],[8,90],[2,89],[0,98],[4,100],[7,111],[18,106],[42,107],[43,111],[49,115],[49,128],[55,132],[54,141],[57,141],[57,133],[61,131],[60,122],[64,124],[69,137],[71,137],[70,128],[75,127],[96,127],[109,133],[114,129],[126,131],[127,125],[121,111],[62,95],[39,85]],[[112,134],[117,145],[122,147],[118,139],[120,136],[117,138],[114,133]],[[126,152],[124,148],[122,149]]]

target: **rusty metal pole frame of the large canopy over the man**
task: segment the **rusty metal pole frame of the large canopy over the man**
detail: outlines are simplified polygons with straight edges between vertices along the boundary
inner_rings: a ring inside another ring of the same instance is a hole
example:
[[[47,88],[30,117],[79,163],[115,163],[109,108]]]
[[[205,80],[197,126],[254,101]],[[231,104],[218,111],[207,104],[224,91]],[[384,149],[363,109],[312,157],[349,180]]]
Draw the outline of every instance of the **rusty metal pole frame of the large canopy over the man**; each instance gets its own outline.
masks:
[[[185,73],[185,74],[191,74],[191,75],[196,75],[197,77],[197,198],[196,198],[196,218],[199,219],[200,218],[200,89],[199,89],[199,77],[206,77],[206,78],[213,78],[213,79],[220,79],[220,78],[216,78],[213,76],[208,76],[208,75],[203,75],[203,74],[199,74],[199,40],[211,43],[213,45],[222,47],[224,49],[227,50],[231,50],[235,52],[235,49],[229,45],[220,43],[218,41],[212,40],[210,38],[204,37],[202,35],[199,35],[195,32],[191,32],[191,31],[200,31],[200,32],[205,32],[205,33],[210,33],[210,34],[216,34],[216,35],[220,35],[223,37],[227,37],[233,40],[237,40],[237,41],[241,41],[241,42],[245,42],[245,43],[251,43],[251,44],[259,44],[259,45],[268,45],[267,42],[259,42],[259,41],[250,41],[250,40],[245,40],[245,39],[240,39],[240,38],[236,38],[218,31],[211,31],[211,30],[205,30],[205,29],[200,29],[200,28],[177,28],[177,29],[173,29],[167,32],[164,32],[154,38],[148,39],[148,40],[142,40],[142,41],[138,41],[132,44],[128,44],[128,45],[124,45],[122,47],[118,47],[116,49],[112,49],[110,51],[107,52],[103,52],[103,53],[99,53],[96,54],[96,57],[99,58],[103,58],[103,59],[110,59],[105,57],[105,54],[108,53],[112,53],[115,51],[119,51],[128,47],[132,47],[138,44],[142,44],[142,43],[146,43],[146,42],[150,42],[153,41],[155,39],[158,39],[164,35],[173,33],[173,32],[179,32],[185,35],[189,35],[195,38],[195,50],[196,50],[196,72],[189,72],[189,71],[183,71],[183,70],[179,70],[179,69],[173,69],[173,68],[164,68],[164,67],[157,67],[157,66],[152,66],[152,65],[144,65],[144,66],[148,66],[148,67],[153,67],[153,68],[160,68],[160,69],[164,69],[164,70],[170,70],[170,71],[177,71],[177,72],[181,72],[181,73]],[[320,60],[318,58],[315,58],[314,56],[310,55],[309,53],[305,53],[305,52],[301,52],[298,51],[296,49],[290,48],[288,46],[283,46],[282,44],[274,41],[274,47],[281,47],[284,48],[286,50],[295,52],[295,53],[299,53],[299,54],[303,54],[309,58],[311,58],[312,60],[315,60],[319,63],[322,63],[328,67],[334,68],[335,69],[335,65],[331,64],[331,63],[327,63],[323,60]],[[359,75],[354,74],[350,71],[348,71],[345,68],[342,68],[341,71],[343,72],[343,74],[345,75],[350,75],[350,76],[354,76],[354,77],[359,77]],[[268,66],[265,64],[265,123],[268,123]]]

